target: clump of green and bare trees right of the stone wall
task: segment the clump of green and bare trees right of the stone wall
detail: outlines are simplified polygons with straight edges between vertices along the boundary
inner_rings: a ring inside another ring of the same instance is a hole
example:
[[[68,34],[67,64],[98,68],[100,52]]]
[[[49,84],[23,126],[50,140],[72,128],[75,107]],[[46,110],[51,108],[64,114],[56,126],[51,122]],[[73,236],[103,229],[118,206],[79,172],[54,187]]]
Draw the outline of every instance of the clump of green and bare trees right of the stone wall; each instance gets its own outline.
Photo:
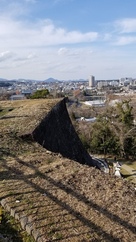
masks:
[[[107,106],[94,123],[74,123],[83,145],[91,153],[136,158],[136,125],[130,100]]]

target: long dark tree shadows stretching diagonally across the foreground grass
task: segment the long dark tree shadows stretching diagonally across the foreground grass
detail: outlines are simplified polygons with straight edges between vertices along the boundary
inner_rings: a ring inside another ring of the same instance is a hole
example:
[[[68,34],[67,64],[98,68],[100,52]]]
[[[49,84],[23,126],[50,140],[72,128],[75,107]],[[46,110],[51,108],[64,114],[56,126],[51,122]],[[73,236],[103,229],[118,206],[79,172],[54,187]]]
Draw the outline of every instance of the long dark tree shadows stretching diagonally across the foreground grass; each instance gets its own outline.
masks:
[[[35,182],[33,182],[30,179],[36,178],[38,176],[39,178],[46,180],[51,185],[51,187],[54,186],[57,190],[60,189],[64,192],[66,192],[67,194],[70,194],[73,198],[76,198],[78,201],[83,202],[85,205],[87,205],[88,209],[93,208],[94,210],[97,210],[100,214],[103,214],[111,221],[117,223],[121,227],[124,227],[124,229],[129,229],[130,231],[135,233],[135,227],[132,224],[130,224],[128,221],[123,220],[118,215],[111,213],[107,208],[103,208],[103,207],[99,206],[97,203],[95,203],[91,199],[88,199],[86,196],[84,196],[84,195],[80,194],[79,192],[73,190],[72,188],[64,185],[61,181],[56,181],[49,175],[42,173],[34,165],[26,163],[16,156],[13,156],[13,158],[16,160],[16,162],[18,164],[26,167],[26,169],[27,168],[33,169],[35,173],[31,174],[31,175],[25,175],[23,173],[23,171],[21,171],[17,167],[9,166],[6,162],[6,159],[2,159],[1,166],[6,170],[1,172],[1,175],[2,175],[1,180],[3,178],[6,179],[7,181],[13,180],[13,184],[14,184],[14,180],[23,181],[25,184],[27,184],[29,187],[31,187],[33,189],[33,191],[41,194],[43,197],[43,200],[44,200],[44,194],[45,194],[46,198],[48,198],[54,204],[58,205],[62,210],[67,211],[68,214],[71,214],[76,220],[80,221],[82,223],[82,225],[84,225],[85,227],[88,227],[88,229],[92,228],[93,230],[95,230],[96,234],[103,238],[103,241],[118,242],[120,240],[117,237],[112,236],[111,233],[109,233],[108,231],[104,231],[101,228],[101,226],[99,226],[98,224],[95,224],[95,222],[93,222],[91,219],[86,218],[82,214],[82,212],[79,212],[77,209],[72,208],[68,203],[59,199],[57,196],[55,196],[51,192],[51,189],[49,190],[49,189],[43,188],[42,186],[40,186],[39,184],[36,184]],[[16,193],[14,193],[14,196],[16,194],[22,194],[22,192],[19,193],[18,191],[16,191]],[[27,192],[24,191],[24,194],[26,194],[26,196],[27,196]],[[1,196],[1,199],[7,198],[9,196],[10,196],[10,194],[5,195],[3,197]],[[39,205],[39,207],[40,206],[41,205]],[[53,207],[53,209],[55,209],[55,207]],[[37,220],[38,220],[38,216],[37,216]],[[39,220],[39,222],[40,222],[40,220]],[[40,226],[39,226],[39,228],[40,228]],[[77,236],[79,236],[79,235],[77,235]],[[69,238],[70,238],[70,235],[69,235]]]

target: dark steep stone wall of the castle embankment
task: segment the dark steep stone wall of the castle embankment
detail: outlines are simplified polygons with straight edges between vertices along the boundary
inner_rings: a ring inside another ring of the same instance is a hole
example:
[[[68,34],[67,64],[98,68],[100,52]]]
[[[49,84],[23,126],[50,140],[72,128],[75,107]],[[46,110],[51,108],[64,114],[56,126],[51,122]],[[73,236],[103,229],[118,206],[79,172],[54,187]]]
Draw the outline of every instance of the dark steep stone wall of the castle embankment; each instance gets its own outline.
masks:
[[[32,137],[47,150],[60,153],[79,163],[95,166],[72,125],[66,100],[64,98],[52,108],[35,128]]]

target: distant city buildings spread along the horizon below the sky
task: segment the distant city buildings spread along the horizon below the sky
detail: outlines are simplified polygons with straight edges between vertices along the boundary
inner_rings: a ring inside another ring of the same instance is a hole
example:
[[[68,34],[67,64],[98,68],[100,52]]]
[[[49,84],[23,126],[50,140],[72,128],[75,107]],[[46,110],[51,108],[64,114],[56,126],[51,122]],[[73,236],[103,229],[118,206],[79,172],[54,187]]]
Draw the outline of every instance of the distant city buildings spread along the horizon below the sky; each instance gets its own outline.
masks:
[[[105,95],[107,93],[136,93],[136,78],[125,77],[111,80],[96,80],[90,75],[88,79],[62,81],[48,78],[44,81],[0,78],[0,100],[19,100],[29,98],[37,90],[48,89],[55,98],[70,96],[89,100],[90,95]]]

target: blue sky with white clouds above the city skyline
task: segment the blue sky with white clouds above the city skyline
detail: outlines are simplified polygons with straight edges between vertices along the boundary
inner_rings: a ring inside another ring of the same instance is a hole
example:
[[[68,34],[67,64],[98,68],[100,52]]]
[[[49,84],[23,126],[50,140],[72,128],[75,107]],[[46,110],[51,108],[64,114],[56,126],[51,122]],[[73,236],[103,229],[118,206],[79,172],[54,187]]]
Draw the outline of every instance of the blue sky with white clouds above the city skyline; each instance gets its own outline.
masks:
[[[135,0],[0,0],[0,77],[136,78]]]

